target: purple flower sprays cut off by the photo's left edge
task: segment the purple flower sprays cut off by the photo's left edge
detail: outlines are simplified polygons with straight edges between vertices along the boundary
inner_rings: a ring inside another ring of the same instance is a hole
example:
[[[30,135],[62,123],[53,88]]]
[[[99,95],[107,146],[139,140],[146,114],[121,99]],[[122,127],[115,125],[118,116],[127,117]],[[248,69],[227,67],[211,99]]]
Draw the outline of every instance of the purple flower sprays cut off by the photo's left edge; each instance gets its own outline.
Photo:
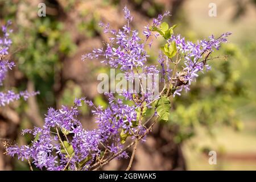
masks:
[[[12,69],[15,66],[13,61],[9,61],[6,59],[12,43],[11,39],[9,38],[10,33],[13,32],[13,30],[9,30],[8,28],[10,24],[11,22],[8,21],[6,26],[2,26],[3,37],[0,38],[0,85],[2,85],[8,69]],[[8,90],[7,92],[0,92],[0,106],[5,106],[10,102],[19,100],[20,97],[24,98],[24,100],[26,101],[28,97],[35,96],[36,94],[39,94],[39,92],[28,93],[27,90],[20,93],[15,93],[11,90]]]

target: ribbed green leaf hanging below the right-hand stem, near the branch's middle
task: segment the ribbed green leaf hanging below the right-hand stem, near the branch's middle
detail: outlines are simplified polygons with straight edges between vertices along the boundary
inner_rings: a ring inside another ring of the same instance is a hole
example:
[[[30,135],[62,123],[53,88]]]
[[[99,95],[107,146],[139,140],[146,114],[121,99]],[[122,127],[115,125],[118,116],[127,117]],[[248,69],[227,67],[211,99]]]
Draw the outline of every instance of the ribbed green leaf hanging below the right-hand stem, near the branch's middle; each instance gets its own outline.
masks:
[[[155,101],[156,113],[164,121],[168,121],[170,115],[171,102],[167,96],[161,96]]]

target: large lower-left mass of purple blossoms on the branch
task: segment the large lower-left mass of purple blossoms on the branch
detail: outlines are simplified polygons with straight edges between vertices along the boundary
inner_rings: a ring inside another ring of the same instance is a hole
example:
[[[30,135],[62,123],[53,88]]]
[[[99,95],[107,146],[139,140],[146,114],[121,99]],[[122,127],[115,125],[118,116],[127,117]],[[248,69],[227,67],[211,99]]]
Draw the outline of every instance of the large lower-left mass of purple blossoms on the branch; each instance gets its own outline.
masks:
[[[101,157],[102,150],[106,150],[108,155],[122,150],[120,132],[133,135],[145,131],[143,127],[136,125],[137,113],[134,106],[115,100],[112,94],[108,94],[108,97],[110,106],[105,110],[94,106],[85,98],[76,100],[75,106],[71,108],[67,106],[62,106],[59,110],[49,108],[42,129],[35,127],[33,130],[22,131],[22,134],[29,133],[34,136],[32,143],[21,147],[16,144],[8,146],[7,154],[16,155],[21,160],[32,159],[32,163],[40,169],[63,170],[68,161],[71,170],[89,169],[90,164]],[[77,106],[81,106],[83,101],[94,108],[92,113],[96,115],[97,129],[85,130],[77,120],[79,114]],[[63,151],[60,138],[72,146],[73,154],[68,156]],[[127,158],[128,155],[122,152],[117,157]]]

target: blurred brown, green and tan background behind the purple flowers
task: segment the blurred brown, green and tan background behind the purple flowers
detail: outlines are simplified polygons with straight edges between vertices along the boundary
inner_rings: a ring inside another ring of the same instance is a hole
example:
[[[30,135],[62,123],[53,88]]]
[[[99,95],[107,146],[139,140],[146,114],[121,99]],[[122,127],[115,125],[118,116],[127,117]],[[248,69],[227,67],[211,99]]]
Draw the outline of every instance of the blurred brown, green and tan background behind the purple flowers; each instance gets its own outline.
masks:
[[[46,3],[46,17],[37,14],[40,2]],[[209,3],[216,3],[216,17],[208,15]],[[42,126],[48,107],[72,105],[81,96],[108,106],[97,93],[97,74],[108,68],[96,60],[82,62],[81,55],[108,40],[100,20],[122,27],[125,5],[139,30],[170,10],[166,21],[178,24],[175,33],[188,40],[233,32],[218,52],[228,59],[212,61],[212,71],[199,77],[190,93],[174,98],[170,121],[159,123],[139,144],[132,169],[256,170],[255,0],[0,0],[1,24],[13,22],[10,52],[16,63],[1,89],[40,91],[28,102],[0,108],[0,170],[29,170],[27,163],[3,154],[2,142],[29,142],[20,131]],[[154,48],[157,44],[151,63]],[[82,107],[80,119],[85,128],[95,127],[89,108]],[[216,165],[208,163],[211,150],[217,152]],[[105,169],[125,169],[127,163],[114,160]]]

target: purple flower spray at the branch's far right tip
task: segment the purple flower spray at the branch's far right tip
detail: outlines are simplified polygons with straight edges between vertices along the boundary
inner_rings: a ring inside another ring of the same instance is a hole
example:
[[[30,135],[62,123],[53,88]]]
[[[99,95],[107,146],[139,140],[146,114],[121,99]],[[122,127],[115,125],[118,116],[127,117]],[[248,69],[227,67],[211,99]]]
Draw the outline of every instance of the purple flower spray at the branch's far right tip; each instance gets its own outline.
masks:
[[[185,41],[180,35],[172,36],[170,42],[175,41],[177,50],[181,59],[184,60],[183,70],[176,73],[176,79],[173,80],[173,84],[176,86],[174,96],[180,96],[180,92],[185,89],[189,90],[192,81],[198,77],[198,72],[203,72],[204,68],[210,69],[207,64],[210,53],[214,49],[219,49],[221,43],[226,43],[228,40],[227,36],[231,35],[231,32],[226,32],[218,38],[210,36],[209,40],[200,40],[197,43]]]

